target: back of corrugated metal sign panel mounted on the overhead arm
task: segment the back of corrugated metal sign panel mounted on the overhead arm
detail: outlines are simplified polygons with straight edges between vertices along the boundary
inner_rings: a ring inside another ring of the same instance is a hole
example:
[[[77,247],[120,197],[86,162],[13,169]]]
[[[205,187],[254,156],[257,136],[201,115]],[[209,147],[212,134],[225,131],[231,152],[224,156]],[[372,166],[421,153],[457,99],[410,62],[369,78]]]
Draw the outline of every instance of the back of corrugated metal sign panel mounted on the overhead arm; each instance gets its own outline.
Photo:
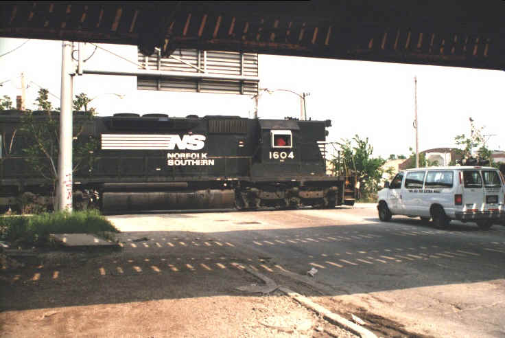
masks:
[[[173,56],[173,57],[172,57]],[[154,91],[193,91],[202,93],[231,93],[256,95],[257,81],[206,80],[185,78],[185,74],[218,74],[225,76],[258,76],[258,55],[236,52],[176,49],[171,57],[160,54],[138,55],[139,69],[178,71],[180,77],[137,77],[137,89]]]

